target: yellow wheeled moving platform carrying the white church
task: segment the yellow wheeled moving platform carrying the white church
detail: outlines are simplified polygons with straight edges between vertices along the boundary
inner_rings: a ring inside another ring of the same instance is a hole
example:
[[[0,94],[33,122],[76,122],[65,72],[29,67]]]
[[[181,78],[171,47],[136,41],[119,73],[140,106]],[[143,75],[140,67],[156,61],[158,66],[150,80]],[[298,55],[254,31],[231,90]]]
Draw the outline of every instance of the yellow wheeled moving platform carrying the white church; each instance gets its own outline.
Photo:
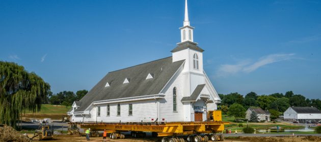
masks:
[[[184,141],[180,136],[187,136],[187,141],[219,141],[224,140],[222,134],[224,125],[229,122],[222,122],[221,111],[210,111],[212,121],[205,122],[167,122],[167,123],[83,123],[81,128],[92,130],[92,135],[97,135],[97,131],[106,129],[113,139],[125,138],[121,132],[130,131],[132,137],[144,137],[145,132],[152,132],[152,136],[161,136],[162,142]],[[209,120],[209,119],[208,119]],[[169,137],[169,138],[168,138]],[[179,138],[180,137],[180,138]]]

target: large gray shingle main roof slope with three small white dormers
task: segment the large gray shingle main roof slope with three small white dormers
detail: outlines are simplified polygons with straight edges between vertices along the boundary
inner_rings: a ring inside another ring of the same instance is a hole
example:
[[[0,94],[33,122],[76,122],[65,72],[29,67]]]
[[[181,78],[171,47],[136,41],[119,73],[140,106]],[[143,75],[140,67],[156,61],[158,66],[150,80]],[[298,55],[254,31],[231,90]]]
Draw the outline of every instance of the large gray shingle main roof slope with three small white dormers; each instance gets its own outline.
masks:
[[[183,62],[167,57],[110,72],[80,100],[82,105],[75,112],[85,111],[93,101],[158,94]],[[145,80],[149,73],[153,79]],[[125,78],[130,82],[123,84]]]

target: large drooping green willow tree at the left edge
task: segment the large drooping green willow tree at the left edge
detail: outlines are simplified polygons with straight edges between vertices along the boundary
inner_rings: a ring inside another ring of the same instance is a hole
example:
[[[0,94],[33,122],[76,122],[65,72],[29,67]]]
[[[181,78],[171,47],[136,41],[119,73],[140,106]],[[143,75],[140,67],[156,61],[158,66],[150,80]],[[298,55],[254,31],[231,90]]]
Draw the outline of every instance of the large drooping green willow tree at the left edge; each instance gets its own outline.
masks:
[[[0,123],[16,128],[20,114],[39,112],[50,85],[23,66],[0,61]]]

